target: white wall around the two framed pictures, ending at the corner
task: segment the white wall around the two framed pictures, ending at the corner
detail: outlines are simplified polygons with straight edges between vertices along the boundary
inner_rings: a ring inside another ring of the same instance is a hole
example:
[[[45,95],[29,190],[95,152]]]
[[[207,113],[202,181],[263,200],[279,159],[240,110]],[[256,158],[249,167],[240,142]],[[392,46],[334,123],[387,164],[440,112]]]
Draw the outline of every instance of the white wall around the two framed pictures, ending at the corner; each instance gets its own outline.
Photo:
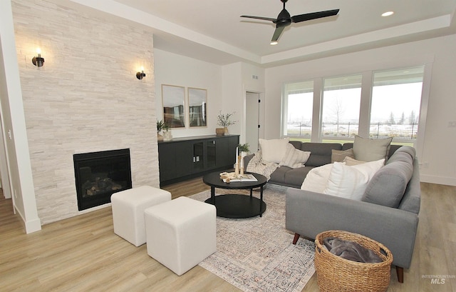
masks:
[[[172,136],[214,135],[217,128],[217,114],[222,109],[222,67],[167,51],[155,49],[155,92],[156,116],[163,119],[162,84],[185,87],[185,102],[188,102],[188,88],[207,89],[207,126],[188,126],[188,109],[185,108],[185,128],[171,129]]]

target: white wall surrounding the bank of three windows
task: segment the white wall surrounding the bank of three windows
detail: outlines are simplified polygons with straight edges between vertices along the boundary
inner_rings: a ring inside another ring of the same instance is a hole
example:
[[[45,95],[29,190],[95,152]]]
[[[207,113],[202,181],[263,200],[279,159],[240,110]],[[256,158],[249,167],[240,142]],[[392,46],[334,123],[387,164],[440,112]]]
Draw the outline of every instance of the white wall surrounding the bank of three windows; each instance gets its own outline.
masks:
[[[452,35],[266,69],[265,137],[280,136],[284,82],[430,64],[427,124],[423,144],[418,145],[421,181],[456,186],[456,157],[452,155],[456,128],[448,126],[456,121],[455,52],[456,35]]]

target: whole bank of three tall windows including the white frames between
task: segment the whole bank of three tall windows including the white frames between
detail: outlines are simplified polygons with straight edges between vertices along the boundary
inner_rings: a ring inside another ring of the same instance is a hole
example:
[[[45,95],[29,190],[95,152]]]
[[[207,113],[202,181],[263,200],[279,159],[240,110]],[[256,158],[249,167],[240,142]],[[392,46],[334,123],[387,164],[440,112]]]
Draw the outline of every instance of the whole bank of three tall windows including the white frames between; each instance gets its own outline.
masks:
[[[355,135],[414,146],[425,66],[284,84],[282,134],[345,143]],[[426,102],[424,99],[423,102]]]

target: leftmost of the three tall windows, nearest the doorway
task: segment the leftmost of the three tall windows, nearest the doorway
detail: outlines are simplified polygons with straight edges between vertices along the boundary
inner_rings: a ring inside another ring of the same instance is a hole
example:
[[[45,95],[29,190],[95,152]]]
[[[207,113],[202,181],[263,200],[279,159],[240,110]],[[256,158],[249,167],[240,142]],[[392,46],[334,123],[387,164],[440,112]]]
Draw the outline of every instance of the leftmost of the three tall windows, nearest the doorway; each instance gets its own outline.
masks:
[[[285,136],[310,141],[313,104],[314,81],[285,84],[283,129]]]

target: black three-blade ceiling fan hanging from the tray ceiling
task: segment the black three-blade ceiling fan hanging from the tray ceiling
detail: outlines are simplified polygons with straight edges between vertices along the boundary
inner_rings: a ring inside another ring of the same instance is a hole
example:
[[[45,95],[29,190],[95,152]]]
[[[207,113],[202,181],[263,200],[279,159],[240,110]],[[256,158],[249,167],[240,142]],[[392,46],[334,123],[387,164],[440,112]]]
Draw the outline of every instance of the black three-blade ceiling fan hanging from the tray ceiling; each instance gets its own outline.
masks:
[[[279,39],[279,36],[281,35],[282,31],[284,31],[286,26],[289,26],[292,22],[297,23],[301,21],[307,21],[311,19],[321,19],[323,17],[327,16],[334,16],[338,14],[339,9],[333,9],[333,10],[326,10],[326,11],[318,11],[318,12],[311,12],[311,13],[306,13],[306,14],[299,14],[295,16],[290,16],[289,12],[286,11],[285,9],[285,4],[286,1],[288,0],[280,0],[284,3],[284,9],[280,11],[279,16],[277,16],[276,19],[271,19],[269,17],[261,17],[261,16],[249,16],[249,15],[241,15],[241,17],[246,17],[248,19],[261,19],[261,20],[267,20],[267,21],[272,21],[274,24],[276,24],[276,30],[274,31],[274,35],[272,36],[271,39],[271,44],[277,44],[277,40]]]

